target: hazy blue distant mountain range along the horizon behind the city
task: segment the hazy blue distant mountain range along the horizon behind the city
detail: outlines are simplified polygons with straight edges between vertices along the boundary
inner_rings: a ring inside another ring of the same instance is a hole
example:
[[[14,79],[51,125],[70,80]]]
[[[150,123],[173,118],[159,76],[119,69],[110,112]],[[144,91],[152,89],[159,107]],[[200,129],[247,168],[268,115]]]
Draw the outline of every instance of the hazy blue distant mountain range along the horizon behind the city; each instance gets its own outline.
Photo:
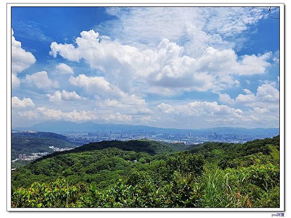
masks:
[[[241,127],[215,127],[204,129],[175,129],[175,128],[159,128],[146,125],[124,125],[124,124],[97,124],[93,122],[73,123],[68,121],[47,121],[31,127],[15,127],[13,130],[36,130],[36,131],[153,131],[153,132],[216,132],[216,133],[240,133],[240,134],[279,134],[279,128],[241,128]]]

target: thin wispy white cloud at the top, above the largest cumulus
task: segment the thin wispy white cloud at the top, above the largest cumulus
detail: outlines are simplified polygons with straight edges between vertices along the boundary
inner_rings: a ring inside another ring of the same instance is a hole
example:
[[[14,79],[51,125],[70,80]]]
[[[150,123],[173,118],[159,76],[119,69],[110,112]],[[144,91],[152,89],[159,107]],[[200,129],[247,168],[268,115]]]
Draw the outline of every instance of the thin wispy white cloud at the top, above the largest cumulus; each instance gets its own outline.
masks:
[[[258,7],[110,7],[107,13],[115,19],[98,25],[97,31],[143,48],[155,47],[168,38],[184,43],[187,53],[195,58],[207,47],[235,46],[225,38],[242,37],[244,31],[268,16],[266,8]]]

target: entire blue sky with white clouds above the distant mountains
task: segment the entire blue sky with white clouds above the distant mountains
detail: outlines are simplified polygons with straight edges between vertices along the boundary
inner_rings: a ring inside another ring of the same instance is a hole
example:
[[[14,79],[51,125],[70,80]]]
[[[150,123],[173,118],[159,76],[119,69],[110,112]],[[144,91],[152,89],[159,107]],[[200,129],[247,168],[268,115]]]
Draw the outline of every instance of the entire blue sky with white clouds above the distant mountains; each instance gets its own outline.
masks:
[[[13,7],[12,126],[278,127],[268,9]]]

